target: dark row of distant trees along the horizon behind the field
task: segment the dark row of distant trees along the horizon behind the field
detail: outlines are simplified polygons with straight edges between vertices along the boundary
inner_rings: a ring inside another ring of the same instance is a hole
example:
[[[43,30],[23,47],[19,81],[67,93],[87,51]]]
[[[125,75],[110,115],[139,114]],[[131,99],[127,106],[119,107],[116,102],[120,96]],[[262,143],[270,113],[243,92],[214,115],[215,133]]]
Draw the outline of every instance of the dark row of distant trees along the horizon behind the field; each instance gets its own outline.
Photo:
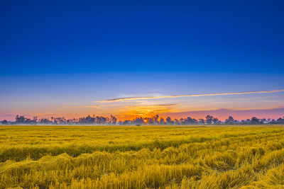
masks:
[[[110,117],[103,116],[90,116],[82,118],[65,119],[62,118],[26,118],[24,115],[16,115],[15,121],[1,121],[2,125],[256,125],[256,124],[284,124],[283,118],[277,120],[271,118],[258,119],[253,117],[247,120],[235,120],[232,116],[229,116],[226,120],[221,121],[218,118],[214,118],[212,115],[207,115],[204,119],[195,118],[180,118],[173,119],[169,116],[162,118],[159,115],[152,117],[140,117],[133,120],[117,121],[117,119],[111,115]]]

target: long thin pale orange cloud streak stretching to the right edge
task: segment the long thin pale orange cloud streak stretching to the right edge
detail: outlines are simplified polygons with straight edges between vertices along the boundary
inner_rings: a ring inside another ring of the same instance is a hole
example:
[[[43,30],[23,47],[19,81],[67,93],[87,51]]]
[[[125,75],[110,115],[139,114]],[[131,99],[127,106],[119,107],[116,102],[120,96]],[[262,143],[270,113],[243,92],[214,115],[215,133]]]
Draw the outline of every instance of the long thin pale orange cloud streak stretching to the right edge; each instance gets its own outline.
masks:
[[[241,95],[241,94],[252,94],[252,93],[278,93],[284,92],[284,89],[272,90],[272,91],[248,91],[248,92],[235,92],[235,93],[212,93],[212,94],[192,94],[192,95],[173,95],[173,96],[146,96],[146,97],[126,97],[126,98],[112,98],[107,101],[94,101],[100,103],[111,103],[117,101],[133,101],[133,100],[147,100],[157,98],[181,98],[181,97],[195,97],[195,96],[223,96],[223,95]]]

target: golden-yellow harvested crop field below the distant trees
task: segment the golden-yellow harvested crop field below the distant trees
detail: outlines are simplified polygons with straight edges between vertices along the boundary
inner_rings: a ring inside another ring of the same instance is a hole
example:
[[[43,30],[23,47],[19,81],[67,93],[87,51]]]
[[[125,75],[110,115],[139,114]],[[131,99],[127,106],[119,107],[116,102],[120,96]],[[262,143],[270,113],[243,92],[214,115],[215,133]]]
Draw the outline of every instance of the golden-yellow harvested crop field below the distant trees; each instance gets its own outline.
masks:
[[[2,126],[0,188],[284,188],[283,126]]]

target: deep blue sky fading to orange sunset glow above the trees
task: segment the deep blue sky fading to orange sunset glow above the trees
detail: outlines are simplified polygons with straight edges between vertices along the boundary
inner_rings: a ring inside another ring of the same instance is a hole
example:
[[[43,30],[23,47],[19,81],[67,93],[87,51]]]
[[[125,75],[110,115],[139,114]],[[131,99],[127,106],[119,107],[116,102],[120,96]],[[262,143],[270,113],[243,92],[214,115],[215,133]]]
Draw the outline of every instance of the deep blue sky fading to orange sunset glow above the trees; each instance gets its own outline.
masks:
[[[284,1],[4,1],[0,120],[283,117],[283,8]]]

